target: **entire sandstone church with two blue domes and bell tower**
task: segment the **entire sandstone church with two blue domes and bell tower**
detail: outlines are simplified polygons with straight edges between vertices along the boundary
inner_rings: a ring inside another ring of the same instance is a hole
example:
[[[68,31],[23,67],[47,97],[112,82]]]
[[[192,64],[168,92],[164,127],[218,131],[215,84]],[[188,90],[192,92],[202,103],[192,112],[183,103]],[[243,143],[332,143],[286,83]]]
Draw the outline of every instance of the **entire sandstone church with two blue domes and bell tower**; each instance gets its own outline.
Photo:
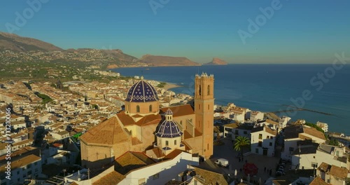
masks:
[[[127,151],[154,160],[174,150],[213,155],[214,75],[196,74],[194,105],[160,109],[157,91],[143,78],[125,99],[125,111],[99,123],[80,137],[83,167],[98,168]]]

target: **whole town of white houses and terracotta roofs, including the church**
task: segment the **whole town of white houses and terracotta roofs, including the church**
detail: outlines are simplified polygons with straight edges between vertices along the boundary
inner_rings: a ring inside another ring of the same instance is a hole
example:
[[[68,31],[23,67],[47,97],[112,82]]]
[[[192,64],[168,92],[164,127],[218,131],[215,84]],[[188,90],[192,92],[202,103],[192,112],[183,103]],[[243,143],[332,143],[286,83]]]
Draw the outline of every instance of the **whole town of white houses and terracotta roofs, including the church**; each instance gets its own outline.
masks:
[[[212,74],[184,95],[94,73],[115,79],[0,84],[1,185],[349,184],[350,137],[327,123],[216,105]]]

